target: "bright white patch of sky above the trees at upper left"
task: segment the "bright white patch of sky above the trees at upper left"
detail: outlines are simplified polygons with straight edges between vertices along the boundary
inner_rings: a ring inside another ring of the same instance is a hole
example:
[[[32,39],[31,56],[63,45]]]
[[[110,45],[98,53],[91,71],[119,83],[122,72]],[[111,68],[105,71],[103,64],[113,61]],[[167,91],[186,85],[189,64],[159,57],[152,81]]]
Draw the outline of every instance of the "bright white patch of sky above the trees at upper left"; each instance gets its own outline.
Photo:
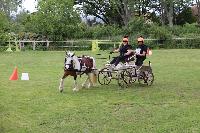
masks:
[[[22,4],[22,8],[32,13],[36,11],[36,8],[35,8],[36,5],[37,5],[37,2],[35,2],[35,0],[24,0]]]

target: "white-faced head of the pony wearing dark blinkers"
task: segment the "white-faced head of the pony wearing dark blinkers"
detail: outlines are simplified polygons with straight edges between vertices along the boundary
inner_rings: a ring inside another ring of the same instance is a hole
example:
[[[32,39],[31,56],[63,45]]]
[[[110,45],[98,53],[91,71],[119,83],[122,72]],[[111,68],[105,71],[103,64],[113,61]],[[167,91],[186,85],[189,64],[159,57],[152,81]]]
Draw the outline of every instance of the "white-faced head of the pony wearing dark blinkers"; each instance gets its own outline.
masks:
[[[74,52],[67,51],[65,56],[65,69],[73,69]]]

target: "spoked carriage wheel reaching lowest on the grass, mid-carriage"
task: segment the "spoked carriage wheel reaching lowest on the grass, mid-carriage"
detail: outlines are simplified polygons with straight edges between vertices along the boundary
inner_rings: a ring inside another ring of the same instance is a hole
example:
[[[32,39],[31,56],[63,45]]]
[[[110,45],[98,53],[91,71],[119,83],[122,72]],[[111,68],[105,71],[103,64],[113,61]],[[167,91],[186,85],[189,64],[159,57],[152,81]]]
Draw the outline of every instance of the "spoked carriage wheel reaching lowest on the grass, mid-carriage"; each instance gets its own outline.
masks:
[[[128,71],[122,71],[118,74],[118,85],[122,88],[128,87],[131,81],[131,73]]]

